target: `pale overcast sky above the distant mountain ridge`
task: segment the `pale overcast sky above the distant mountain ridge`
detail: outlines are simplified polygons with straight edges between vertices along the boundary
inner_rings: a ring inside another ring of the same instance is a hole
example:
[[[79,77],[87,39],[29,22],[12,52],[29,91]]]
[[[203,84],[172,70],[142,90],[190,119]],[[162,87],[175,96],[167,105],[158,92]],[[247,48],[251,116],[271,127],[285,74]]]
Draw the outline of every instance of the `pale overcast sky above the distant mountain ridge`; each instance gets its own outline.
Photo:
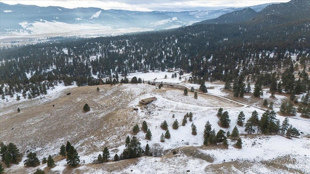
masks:
[[[7,4],[60,6],[65,8],[97,7],[104,10],[130,11],[195,11],[218,10],[227,7],[248,7],[289,0],[1,0]]]

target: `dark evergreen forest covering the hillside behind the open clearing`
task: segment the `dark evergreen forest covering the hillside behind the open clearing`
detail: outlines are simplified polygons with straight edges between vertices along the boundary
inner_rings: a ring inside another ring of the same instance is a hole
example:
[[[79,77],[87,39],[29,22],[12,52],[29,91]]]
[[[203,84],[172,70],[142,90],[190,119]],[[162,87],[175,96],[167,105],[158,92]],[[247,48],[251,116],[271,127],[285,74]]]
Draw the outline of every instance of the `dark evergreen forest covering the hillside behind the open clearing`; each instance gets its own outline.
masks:
[[[297,8],[301,13],[290,13]],[[57,81],[65,85],[75,81],[78,86],[109,84],[114,78],[116,82],[124,78],[117,73],[126,76],[175,68],[192,72],[194,83],[234,82],[233,90],[238,86],[240,91],[243,82],[251,80],[280,91],[274,87],[280,80],[285,92],[299,94],[310,89],[309,49],[310,3],[292,0],[269,5],[243,23],[3,47],[0,93],[2,99],[16,91],[35,97]],[[301,88],[297,88],[299,83]]]

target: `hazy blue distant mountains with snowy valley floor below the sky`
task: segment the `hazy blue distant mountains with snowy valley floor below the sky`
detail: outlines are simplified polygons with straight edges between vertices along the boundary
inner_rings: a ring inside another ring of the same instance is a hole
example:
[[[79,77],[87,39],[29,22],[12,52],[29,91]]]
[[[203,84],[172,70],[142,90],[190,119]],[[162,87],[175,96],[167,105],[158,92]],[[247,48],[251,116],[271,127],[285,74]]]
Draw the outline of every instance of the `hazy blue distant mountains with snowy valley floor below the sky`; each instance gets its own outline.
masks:
[[[261,11],[268,4],[252,6]],[[139,12],[126,10],[103,10],[100,8],[39,7],[34,5],[8,5],[0,2],[0,32],[7,34],[92,34],[115,32],[113,29],[143,30],[172,29],[195,22],[214,19],[241,8],[190,12]],[[89,28],[87,28],[89,27]],[[90,31],[91,29],[91,31]],[[106,29],[105,31],[101,31]],[[87,30],[87,31],[86,31]],[[83,31],[83,32],[82,32]]]

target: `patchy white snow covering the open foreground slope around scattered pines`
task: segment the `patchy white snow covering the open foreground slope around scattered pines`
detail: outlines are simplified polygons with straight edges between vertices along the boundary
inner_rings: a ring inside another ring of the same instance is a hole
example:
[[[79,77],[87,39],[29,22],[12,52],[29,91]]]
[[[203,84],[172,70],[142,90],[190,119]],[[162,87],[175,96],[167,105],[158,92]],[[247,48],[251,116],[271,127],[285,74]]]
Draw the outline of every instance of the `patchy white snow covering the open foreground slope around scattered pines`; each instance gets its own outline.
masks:
[[[183,90],[172,89],[163,87],[162,89],[155,89],[154,86],[147,85],[147,81],[153,82],[163,82],[163,83],[173,83],[181,84],[187,87],[193,86],[195,89],[199,88],[199,85],[188,84],[185,80],[188,79],[189,74],[182,75],[182,79],[179,80],[179,75],[177,78],[171,78],[172,73],[168,72],[152,72],[152,73],[133,73],[128,76],[132,78],[136,76],[145,81],[145,84],[124,84],[116,85],[110,87],[104,93],[105,96],[109,96],[111,100],[119,100],[113,95],[113,91],[120,90],[124,94],[128,94],[132,97],[132,100],[126,103],[124,107],[133,108],[138,107],[137,116],[139,119],[132,120],[134,124],[139,124],[140,121],[145,120],[148,124],[149,129],[152,132],[152,139],[145,140],[145,134],[140,131],[136,136],[140,140],[141,147],[145,148],[146,144],[149,144],[151,149],[162,157],[141,157],[135,160],[132,164],[129,163],[124,167],[111,170],[112,166],[118,166],[124,164],[125,161],[109,162],[105,164],[90,165],[93,163],[100,151],[89,151],[87,142],[91,142],[92,145],[98,146],[98,149],[103,149],[104,145],[107,145],[108,141],[121,141],[117,139],[117,135],[110,136],[106,139],[98,139],[95,134],[87,136],[85,139],[80,139],[78,143],[74,144],[78,149],[82,164],[77,168],[71,170],[71,173],[83,173],[83,174],[106,174],[106,173],[130,173],[130,174],[171,174],[179,173],[184,174],[186,171],[190,171],[193,174],[202,173],[249,173],[249,174],[310,174],[310,120],[301,120],[300,116],[293,116],[289,118],[290,124],[297,128],[299,131],[303,132],[301,136],[297,138],[287,139],[285,136],[281,135],[255,135],[248,136],[244,131],[244,127],[237,125],[237,116],[240,111],[243,111],[246,120],[251,116],[251,113],[256,110],[259,113],[259,118],[264,113],[263,110],[259,109],[259,104],[254,103],[252,107],[247,104],[235,103],[231,100],[225,100],[227,93],[222,92],[224,85],[218,85],[216,83],[207,83],[206,87],[208,93],[213,94],[205,95],[198,94],[198,99],[194,99],[193,93],[188,92],[188,96],[183,95]],[[167,75],[167,78],[164,78]],[[73,87],[73,86],[70,86]],[[105,86],[99,86],[100,88],[106,88]],[[31,102],[27,102],[28,99],[21,99],[16,101],[15,98],[9,99],[8,102],[1,101],[1,120],[6,120],[3,116],[10,112],[15,112],[10,105],[16,104],[16,102],[23,103],[31,107],[31,105],[36,105],[39,102],[52,102],[53,100],[62,97],[65,91],[69,87],[64,87],[62,85],[55,86],[54,89],[49,89],[48,94],[41,99],[32,99]],[[82,87],[79,87],[80,89]],[[73,88],[74,89],[74,88]],[[110,93],[109,93],[110,92]],[[139,101],[141,99],[155,96],[157,101],[149,104],[149,107],[140,107]],[[221,98],[216,97],[221,96]],[[247,97],[250,100],[249,97]],[[270,95],[266,91],[263,92],[262,100],[269,99]],[[285,97],[276,95],[274,101],[281,101]],[[100,98],[93,97],[95,102],[100,102]],[[37,102],[35,102],[37,101]],[[78,101],[78,99],[77,99]],[[279,111],[279,103],[275,102],[275,111]],[[25,106],[26,107],[26,106]],[[115,106],[116,107],[116,106]],[[218,117],[216,116],[217,110],[222,107],[224,111],[229,112],[231,119],[231,124],[229,128],[221,128],[217,124]],[[109,107],[106,107],[109,108]],[[113,108],[115,109],[115,108]],[[92,116],[98,113],[104,113],[109,111],[102,111],[100,108],[94,108],[88,116]],[[135,115],[136,111],[130,111]],[[186,126],[182,126],[182,119],[186,113],[193,113],[193,121],[187,120]],[[103,115],[103,114],[102,114]],[[175,117],[173,118],[172,115]],[[104,118],[104,117],[102,117]],[[277,115],[277,118],[282,122],[285,117]],[[294,119],[297,118],[297,119]],[[177,119],[179,122],[179,129],[173,130],[172,123]],[[140,120],[140,121],[139,121]],[[169,130],[171,133],[171,138],[166,139],[165,142],[160,142],[160,135],[165,131],[160,128],[160,124],[166,120],[169,125]],[[228,139],[229,147],[228,149],[223,149],[220,147],[205,147],[203,145],[203,130],[205,123],[209,121],[212,125],[212,129],[219,131],[220,129],[224,131],[233,131],[233,127],[237,126],[239,133],[243,141],[243,146],[241,149],[233,147],[235,144],[234,140]],[[191,124],[194,123],[197,127],[197,135],[191,134]],[[29,123],[28,123],[29,124]],[[128,125],[127,125],[128,126]],[[129,129],[131,129],[130,127]],[[2,130],[2,129],[1,129]],[[125,132],[127,135],[132,137],[131,132]],[[76,133],[78,136],[79,132]],[[4,137],[1,137],[1,139]],[[67,140],[67,136],[63,136],[62,142]],[[124,138],[122,138],[123,140]],[[7,142],[6,142],[7,143]],[[19,144],[19,143],[18,143]],[[47,147],[50,145],[46,142]],[[110,145],[110,144],[109,144]],[[51,147],[36,147],[36,152],[39,154],[40,158],[43,156],[47,157],[49,154],[58,154],[58,146]],[[184,153],[182,150],[185,147],[192,147],[195,150],[192,153],[199,153],[209,156],[212,161],[203,160],[202,158],[193,157],[190,153]],[[115,154],[120,155],[124,150],[124,142],[117,142],[114,145],[108,146],[110,149],[111,160]],[[177,149],[177,154],[172,155],[171,152]],[[168,155],[169,154],[169,155]],[[25,160],[25,156],[23,158]],[[219,165],[220,166],[217,166]],[[277,164],[275,166],[274,164]],[[50,173],[64,173],[66,171],[66,161],[60,160],[56,162],[56,167],[52,168]],[[15,170],[18,171],[19,168],[23,166],[23,162],[19,165],[13,165],[9,172]],[[284,167],[283,167],[284,166]],[[41,165],[36,168],[46,168],[46,165]],[[27,170],[34,171],[33,170]],[[68,173],[68,172],[66,172]],[[70,172],[69,172],[70,173]]]

